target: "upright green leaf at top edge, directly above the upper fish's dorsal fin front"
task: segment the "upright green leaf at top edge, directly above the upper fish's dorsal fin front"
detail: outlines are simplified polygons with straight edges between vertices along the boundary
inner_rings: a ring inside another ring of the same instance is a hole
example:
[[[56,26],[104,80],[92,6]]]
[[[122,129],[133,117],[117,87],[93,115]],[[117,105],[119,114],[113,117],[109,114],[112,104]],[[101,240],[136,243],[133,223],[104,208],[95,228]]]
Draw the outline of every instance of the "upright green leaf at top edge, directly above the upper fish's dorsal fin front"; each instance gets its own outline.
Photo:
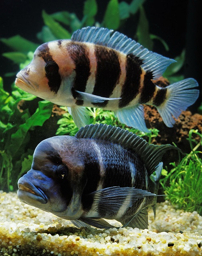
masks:
[[[105,28],[116,30],[118,29],[119,24],[120,15],[118,0],[110,0],[105,11],[103,26]]]

